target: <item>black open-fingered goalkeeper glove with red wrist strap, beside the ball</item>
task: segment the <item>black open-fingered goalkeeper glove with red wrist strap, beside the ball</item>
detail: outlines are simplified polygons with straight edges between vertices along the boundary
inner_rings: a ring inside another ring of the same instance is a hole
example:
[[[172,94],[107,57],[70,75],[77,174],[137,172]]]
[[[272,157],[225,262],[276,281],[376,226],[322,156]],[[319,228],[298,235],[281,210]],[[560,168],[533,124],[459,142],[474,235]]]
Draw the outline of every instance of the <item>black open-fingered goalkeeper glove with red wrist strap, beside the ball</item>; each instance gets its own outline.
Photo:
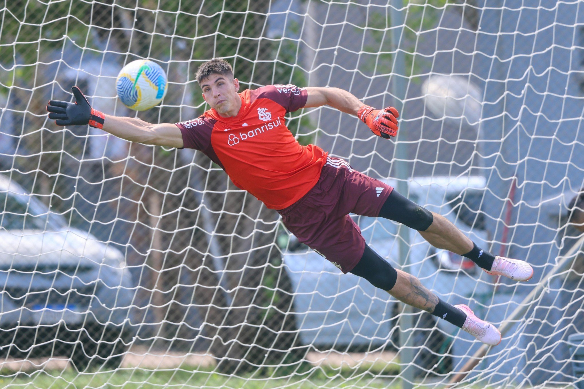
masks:
[[[55,121],[57,125],[86,125],[103,128],[105,115],[94,110],[87,101],[81,90],[74,86],[71,88],[75,103],[68,101],[50,100],[47,105],[48,118]]]

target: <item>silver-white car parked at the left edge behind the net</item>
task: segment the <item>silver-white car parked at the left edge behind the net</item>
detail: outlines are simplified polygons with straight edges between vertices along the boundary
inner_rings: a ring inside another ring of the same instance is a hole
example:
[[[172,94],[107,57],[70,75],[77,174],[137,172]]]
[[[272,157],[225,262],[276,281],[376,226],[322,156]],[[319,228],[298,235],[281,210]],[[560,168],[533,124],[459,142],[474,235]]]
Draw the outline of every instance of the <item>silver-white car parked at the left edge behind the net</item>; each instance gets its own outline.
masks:
[[[134,337],[123,254],[0,174],[0,355],[119,366]]]

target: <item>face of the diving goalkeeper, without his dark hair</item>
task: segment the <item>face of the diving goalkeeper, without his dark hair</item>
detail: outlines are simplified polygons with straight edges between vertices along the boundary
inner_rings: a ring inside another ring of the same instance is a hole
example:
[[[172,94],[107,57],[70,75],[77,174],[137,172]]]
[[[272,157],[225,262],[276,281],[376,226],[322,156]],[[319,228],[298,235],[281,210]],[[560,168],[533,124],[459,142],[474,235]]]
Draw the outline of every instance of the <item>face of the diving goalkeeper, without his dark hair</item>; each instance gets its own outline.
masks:
[[[239,81],[237,78],[224,76],[222,74],[211,74],[208,78],[201,80],[203,99],[215,108],[215,111],[225,115],[231,113],[235,107],[239,107]],[[237,112],[235,112],[237,114]]]

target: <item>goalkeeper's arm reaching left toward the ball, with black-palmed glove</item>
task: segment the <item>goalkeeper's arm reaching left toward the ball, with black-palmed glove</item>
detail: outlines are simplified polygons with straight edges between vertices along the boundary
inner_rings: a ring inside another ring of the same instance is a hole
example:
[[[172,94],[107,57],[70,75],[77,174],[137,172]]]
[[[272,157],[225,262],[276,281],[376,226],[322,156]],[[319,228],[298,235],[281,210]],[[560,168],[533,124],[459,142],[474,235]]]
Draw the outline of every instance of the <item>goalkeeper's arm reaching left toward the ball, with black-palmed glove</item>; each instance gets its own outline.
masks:
[[[48,118],[57,125],[91,125],[101,128],[118,138],[130,142],[168,147],[183,147],[180,129],[174,124],[151,124],[131,117],[105,115],[94,110],[77,86],[71,88],[75,103],[51,100],[48,102]]]

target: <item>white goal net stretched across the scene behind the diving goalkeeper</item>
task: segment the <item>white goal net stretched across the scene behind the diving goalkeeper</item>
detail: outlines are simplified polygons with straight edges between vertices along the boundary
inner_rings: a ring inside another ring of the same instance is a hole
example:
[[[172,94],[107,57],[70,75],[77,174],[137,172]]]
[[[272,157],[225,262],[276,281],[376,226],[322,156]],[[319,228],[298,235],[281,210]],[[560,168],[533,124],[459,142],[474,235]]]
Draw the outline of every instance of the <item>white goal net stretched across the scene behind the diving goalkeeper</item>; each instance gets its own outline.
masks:
[[[582,380],[578,1],[27,0],[0,13],[2,383],[434,387],[477,352],[462,383]],[[481,352],[342,275],[199,151],[47,118],[47,101],[71,101],[73,85],[106,114],[196,118],[208,106],[194,73],[214,57],[242,89],[340,87],[397,107],[390,141],[327,106],[287,124],[479,246],[533,265],[530,282],[498,279],[394,222],[353,215],[396,268],[503,325],[502,343]],[[162,103],[141,113],[116,96],[135,59],[168,76]]]

